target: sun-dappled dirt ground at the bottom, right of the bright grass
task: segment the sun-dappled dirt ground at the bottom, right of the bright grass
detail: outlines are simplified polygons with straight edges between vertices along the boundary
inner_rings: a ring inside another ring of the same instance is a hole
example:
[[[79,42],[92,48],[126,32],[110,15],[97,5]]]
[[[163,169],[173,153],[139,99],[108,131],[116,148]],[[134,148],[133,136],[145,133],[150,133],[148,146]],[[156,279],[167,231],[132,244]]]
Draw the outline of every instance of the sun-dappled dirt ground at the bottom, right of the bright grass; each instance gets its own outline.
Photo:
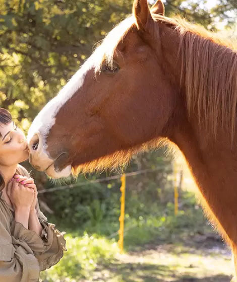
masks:
[[[185,245],[152,244],[119,255],[113,263],[98,267],[90,281],[229,282],[232,273],[231,253],[222,242],[197,235]]]

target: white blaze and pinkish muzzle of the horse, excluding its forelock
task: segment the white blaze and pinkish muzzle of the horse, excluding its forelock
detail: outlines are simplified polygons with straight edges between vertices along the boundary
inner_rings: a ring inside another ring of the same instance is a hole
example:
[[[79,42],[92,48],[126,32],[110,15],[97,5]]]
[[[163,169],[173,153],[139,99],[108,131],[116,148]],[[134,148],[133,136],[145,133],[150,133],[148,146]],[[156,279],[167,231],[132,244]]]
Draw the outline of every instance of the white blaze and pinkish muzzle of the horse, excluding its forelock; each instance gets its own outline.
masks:
[[[88,70],[93,68],[93,55],[82,65],[64,88],[39,112],[33,120],[28,136],[27,143],[30,150],[31,164],[38,170],[45,171],[53,178],[67,177],[71,173],[71,165],[62,171],[55,171],[53,159],[47,151],[46,138],[52,126],[55,124],[58,111],[73,97],[73,95],[83,86]],[[37,150],[32,149],[32,142],[38,138]]]

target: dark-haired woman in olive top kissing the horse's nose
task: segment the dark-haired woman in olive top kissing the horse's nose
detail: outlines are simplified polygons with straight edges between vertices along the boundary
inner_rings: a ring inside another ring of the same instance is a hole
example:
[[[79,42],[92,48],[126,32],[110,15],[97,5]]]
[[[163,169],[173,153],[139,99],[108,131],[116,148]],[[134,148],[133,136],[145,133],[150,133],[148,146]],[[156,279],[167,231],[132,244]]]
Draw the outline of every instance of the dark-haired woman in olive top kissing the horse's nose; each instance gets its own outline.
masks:
[[[19,163],[28,159],[25,135],[0,108],[0,281],[38,281],[63,257],[66,241],[40,212],[34,180]]]

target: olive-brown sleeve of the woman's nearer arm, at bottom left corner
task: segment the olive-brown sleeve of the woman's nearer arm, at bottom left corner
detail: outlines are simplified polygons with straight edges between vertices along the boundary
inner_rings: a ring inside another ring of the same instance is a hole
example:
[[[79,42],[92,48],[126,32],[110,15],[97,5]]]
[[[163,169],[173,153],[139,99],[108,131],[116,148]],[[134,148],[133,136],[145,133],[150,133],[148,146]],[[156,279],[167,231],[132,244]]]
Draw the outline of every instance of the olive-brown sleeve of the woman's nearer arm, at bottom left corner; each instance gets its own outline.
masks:
[[[1,215],[0,281],[37,282],[40,273],[39,263],[30,248],[37,234],[15,221],[11,222],[10,233],[7,224],[9,225],[7,219]]]

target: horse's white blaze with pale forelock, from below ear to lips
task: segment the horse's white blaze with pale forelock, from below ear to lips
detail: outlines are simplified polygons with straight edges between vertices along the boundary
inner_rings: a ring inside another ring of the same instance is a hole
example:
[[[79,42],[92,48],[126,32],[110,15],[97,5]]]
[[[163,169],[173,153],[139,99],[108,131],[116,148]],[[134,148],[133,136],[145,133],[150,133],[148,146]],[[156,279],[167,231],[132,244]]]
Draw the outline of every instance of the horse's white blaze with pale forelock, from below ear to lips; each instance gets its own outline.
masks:
[[[76,92],[78,93],[78,90],[83,86],[88,71],[98,70],[106,55],[110,54],[110,57],[113,56],[113,51],[116,45],[127,33],[128,28],[134,23],[134,21],[134,18],[130,17],[117,25],[105,37],[103,43],[96,48],[94,53],[86,62],[84,62],[78,72],[71,78],[64,88],[45,105],[45,107],[33,120],[28,132],[27,142],[30,150],[31,164],[35,166],[36,169],[42,171],[48,168],[51,176],[55,178],[65,177],[66,174],[69,173],[69,170],[71,170],[71,166],[68,166],[61,172],[56,172],[54,170],[54,166],[52,165],[54,160],[47,151],[48,146],[46,144],[49,131],[56,122],[58,111],[60,111],[60,109],[73,97]],[[34,146],[36,148],[35,150],[33,149]]]

